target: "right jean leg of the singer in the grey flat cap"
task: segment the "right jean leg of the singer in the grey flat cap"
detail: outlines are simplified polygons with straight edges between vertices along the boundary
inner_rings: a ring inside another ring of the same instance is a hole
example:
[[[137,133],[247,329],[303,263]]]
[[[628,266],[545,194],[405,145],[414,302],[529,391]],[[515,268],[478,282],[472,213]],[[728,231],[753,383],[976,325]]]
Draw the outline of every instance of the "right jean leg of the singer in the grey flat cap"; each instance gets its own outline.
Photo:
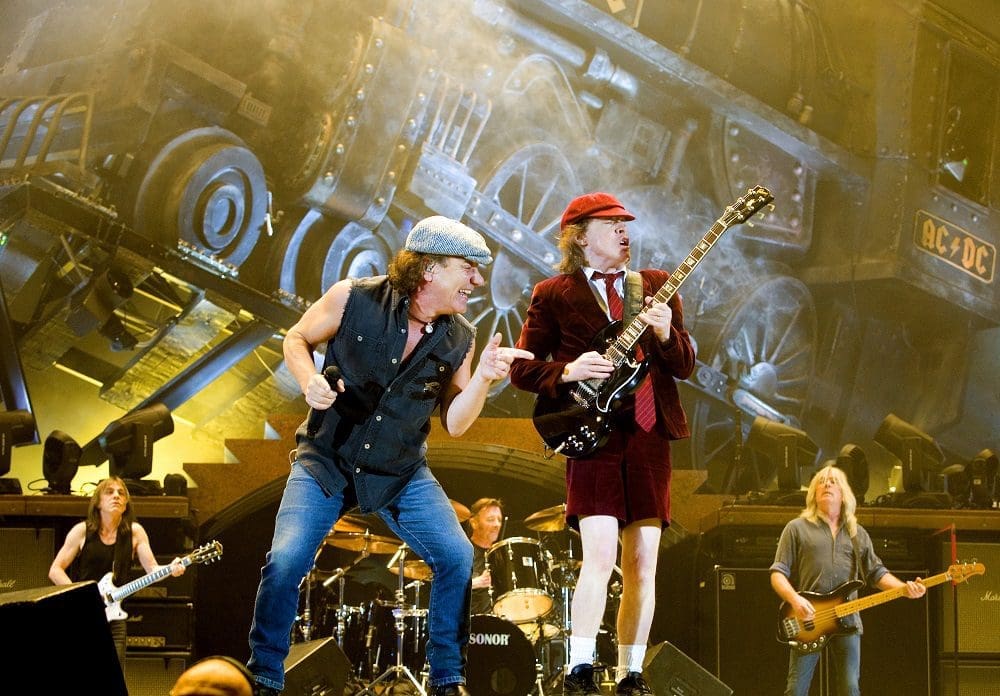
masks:
[[[428,604],[430,685],[465,682],[472,592],[472,543],[448,496],[423,469],[381,513],[386,524],[434,573]]]

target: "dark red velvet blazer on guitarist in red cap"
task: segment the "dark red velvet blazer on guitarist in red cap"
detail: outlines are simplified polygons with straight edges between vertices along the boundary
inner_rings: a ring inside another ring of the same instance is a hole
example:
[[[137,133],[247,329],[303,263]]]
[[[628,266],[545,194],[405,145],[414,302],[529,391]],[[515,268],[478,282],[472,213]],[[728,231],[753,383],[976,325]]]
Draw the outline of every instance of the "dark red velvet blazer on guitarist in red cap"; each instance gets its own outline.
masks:
[[[655,295],[667,282],[669,274],[646,269],[642,275],[643,296]],[[627,284],[626,284],[627,286]],[[626,287],[625,306],[629,303]],[[673,330],[670,340],[660,343],[652,329],[639,339],[649,364],[649,374],[656,394],[656,412],[672,440],[689,437],[687,417],[677,392],[677,379],[687,379],[694,371],[695,353],[684,328],[684,310],[680,295],[670,299]],[[534,360],[515,360],[510,369],[511,383],[525,391],[556,397],[559,390],[572,389],[575,383],[560,384],[566,364],[594,350],[597,334],[608,325],[608,317],[598,302],[583,270],[560,274],[539,282],[531,295],[528,314],[517,341],[518,348],[530,350]]]

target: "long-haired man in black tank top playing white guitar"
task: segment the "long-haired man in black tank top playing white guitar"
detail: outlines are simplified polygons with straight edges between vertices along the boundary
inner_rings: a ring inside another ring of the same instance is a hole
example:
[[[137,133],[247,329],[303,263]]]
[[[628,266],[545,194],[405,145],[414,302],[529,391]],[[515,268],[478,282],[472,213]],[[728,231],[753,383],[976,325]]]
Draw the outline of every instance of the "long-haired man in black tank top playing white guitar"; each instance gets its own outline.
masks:
[[[99,582],[107,573],[114,572],[115,585],[124,585],[130,579],[133,558],[139,560],[147,573],[160,567],[149,545],[149,535],[135,520],[125,482],[109,476],[94,487],[87,519],[77,522],[66,534],[66,541],[49,567],[49,580],[56,585],[84,580]],[[171,561],[170,567],[171,575],[184,574],[180,558]],[[112,621],[110,626],[124,671],[126,622]]]

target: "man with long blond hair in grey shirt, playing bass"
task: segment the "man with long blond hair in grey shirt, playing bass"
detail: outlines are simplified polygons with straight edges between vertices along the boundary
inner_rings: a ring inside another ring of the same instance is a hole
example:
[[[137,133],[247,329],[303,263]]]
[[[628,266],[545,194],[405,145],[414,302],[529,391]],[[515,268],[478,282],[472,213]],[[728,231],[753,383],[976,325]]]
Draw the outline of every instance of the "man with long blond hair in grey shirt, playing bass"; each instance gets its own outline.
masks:
[[[889,590],[906,587],[911,599],[923,597],[927,588],[920,579],[903,582],[875,554],[871,537],[854,515],[857,500],[843,470],[827,465],[813,476],[806,492],[806,507],[785,525],[771,565],[771,587],[804,625],[814,621],[817,607],[800,592],[829,593],[844,583],[860,580]],[[796,590],[797,588],[797,590]],[[847,599],[855,599],[852,593]],[[845,632],[828,637],[826,653],[831,664],[834,693],[861,693],[861,616],[839,619]],[[788,660],[785,696],[807,696],[822,650],[792,649]]]

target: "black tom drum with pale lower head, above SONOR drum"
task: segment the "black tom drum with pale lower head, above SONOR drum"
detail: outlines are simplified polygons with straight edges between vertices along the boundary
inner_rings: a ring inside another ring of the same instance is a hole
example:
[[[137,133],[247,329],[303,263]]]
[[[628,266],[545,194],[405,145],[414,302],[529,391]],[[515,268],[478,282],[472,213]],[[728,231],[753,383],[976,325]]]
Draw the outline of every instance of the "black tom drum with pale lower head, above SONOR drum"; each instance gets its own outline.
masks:
[[[541,542],[527,537],[498,541],[486,552],[493,583],[493,613],[516,623],[552,609],[552,581]]]

